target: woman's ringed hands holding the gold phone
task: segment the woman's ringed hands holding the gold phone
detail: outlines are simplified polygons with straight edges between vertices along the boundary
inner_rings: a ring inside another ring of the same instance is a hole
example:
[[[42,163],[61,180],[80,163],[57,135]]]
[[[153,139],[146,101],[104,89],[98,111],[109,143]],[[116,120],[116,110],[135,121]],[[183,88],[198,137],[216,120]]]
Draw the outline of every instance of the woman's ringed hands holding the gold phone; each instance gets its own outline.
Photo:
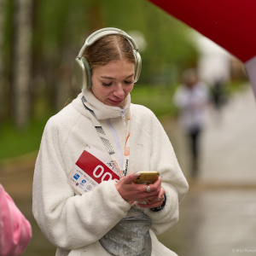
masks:
[[[160,207],[163,203],[165,189],[161,187],[161,177],[154,184],[149,184],[151,192],[147,192],[148,185],[133,183],[137,172],[119,179],[115,184],[119,194],[125,201],[137,201],[137,206],[142,208]],[[146,202],[142,203],[142,202]]]

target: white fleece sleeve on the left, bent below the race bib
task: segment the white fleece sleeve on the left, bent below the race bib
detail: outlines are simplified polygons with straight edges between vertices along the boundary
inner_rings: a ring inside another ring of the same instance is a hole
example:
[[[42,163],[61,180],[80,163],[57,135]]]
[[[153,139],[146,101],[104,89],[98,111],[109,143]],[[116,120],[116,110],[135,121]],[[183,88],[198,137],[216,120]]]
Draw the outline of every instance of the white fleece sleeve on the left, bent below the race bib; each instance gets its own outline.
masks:
[[[33,179],[33,214],[49,241],[64,250],[98,241],[130,209],[114,182],[74,195],[67,183],[60,127],[49,120],[44,129]],[[73,163],[75,164],[75,162]]]

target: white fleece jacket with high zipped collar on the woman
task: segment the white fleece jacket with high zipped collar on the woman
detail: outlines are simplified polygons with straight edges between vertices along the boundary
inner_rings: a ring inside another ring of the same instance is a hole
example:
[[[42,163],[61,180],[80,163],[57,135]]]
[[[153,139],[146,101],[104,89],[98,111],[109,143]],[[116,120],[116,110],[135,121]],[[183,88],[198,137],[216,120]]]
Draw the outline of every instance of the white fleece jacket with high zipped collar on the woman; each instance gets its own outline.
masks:
[[[158,171],[166,190],[166,207],[160,212],[141,209],[152,218],[150,230],[153,256],[176,255],[157,240],[160,234],[178,219],[178,203],[188,190],[176,155],[166,132],[148,108],[131,104],[127,97],[121,109],[99,102],[90,90],[84,90],[60,113],[49,119],[44,129],[33,179],[32,211],[39,227],[50,242],[57,247],[57,256],[110,255],[99,239],[125,217],[131,205],[125,201],[114,182],[99,184],[93,191],[77,195],[67,183],[67,173],[73,168],[86,144],[108,154],[82,96],[90,102],[114,150],[117,145],[124,151],[125,122],[131,109],[131,154],[128,174],[137,171]],[[117,133],[113,137],[110,125]],[[124,153],[124,152],[123,152]]]

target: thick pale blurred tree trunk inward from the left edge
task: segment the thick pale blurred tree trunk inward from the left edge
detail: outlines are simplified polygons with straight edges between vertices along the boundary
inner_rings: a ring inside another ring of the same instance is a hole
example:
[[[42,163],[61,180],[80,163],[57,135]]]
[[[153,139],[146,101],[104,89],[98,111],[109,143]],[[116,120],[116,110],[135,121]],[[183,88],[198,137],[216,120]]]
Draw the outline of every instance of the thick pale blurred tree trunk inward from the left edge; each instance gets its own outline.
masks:
[[[30,116],[32,0],[15,0],[13,109],[15,125],[24,129]]]

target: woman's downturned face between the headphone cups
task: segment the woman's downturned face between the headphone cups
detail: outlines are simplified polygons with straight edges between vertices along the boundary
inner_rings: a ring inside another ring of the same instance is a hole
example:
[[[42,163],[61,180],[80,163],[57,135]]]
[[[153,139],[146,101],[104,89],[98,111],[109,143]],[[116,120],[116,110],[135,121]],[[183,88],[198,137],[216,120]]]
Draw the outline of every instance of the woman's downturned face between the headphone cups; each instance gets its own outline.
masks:
[[[128,61],[111,61],[93,69],[92,93],[109,106],[123,108],[125,98],[134,85],[134,64]]]

